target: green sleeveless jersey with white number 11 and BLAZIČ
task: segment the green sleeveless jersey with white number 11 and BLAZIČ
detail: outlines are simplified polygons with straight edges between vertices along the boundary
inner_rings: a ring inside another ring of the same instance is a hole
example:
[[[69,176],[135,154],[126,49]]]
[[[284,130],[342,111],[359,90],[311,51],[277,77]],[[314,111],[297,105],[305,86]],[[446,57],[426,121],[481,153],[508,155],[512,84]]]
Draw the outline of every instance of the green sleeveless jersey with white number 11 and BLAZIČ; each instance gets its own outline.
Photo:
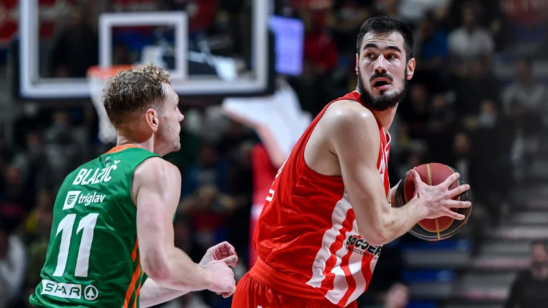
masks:
[[[29,301],[41,307],[139,307],[144,283],[132,199],[134,170],[155,157],[114,149],[66,177],[53,205],[42,282]]]

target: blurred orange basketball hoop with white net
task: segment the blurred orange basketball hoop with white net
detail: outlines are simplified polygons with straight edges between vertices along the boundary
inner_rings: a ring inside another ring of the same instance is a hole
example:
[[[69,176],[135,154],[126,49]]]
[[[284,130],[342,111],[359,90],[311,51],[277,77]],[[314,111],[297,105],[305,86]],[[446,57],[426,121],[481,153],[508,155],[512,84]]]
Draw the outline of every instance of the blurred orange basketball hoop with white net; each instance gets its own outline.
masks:
[[[88,68],[87,76],[90,96],[99,117],[99,140],[103,143],[116,142],[117,137],[116,129],[110,124],[105,107],[103,107],[103,89],[110,77],[116,76],[121,70],[128,70],[132,67],[131,65],[116,65],[106,68],[101,66]]]

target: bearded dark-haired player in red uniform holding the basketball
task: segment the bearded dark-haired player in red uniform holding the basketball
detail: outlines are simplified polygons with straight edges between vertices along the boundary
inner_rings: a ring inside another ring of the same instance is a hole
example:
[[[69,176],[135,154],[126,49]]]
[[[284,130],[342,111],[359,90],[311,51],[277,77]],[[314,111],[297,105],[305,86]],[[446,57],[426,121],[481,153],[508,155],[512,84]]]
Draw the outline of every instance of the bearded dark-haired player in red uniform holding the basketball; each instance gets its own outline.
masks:
[[[397,19],[362,25],[358,88],[325,106],[277,172],[253,236],[258,261],[233,308],[357,307],[383,244],[423,218],[464,219],[450,210],[471,206],[452,200],[469,190],[449,190],[458,174],[429,186],[412,170],[414,198],[388,203],[388,128],[414,73],[413,45]]]

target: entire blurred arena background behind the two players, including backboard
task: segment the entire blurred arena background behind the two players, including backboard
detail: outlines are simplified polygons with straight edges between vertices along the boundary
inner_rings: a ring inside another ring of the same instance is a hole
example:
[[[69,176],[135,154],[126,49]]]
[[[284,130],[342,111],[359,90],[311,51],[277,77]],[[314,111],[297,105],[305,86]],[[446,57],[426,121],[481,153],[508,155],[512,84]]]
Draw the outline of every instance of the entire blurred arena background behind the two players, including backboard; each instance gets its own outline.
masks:
[[[0,0],[0,308],[29,307],[58,186],[112,146],[97,107],[122,64],[173,72],[186,116],[182,150],[166,157],[183,175],[175,240],[195,261],[229,240],[241,277],[275,170],[356,88],[356,35],[378,15],[416,38],[390,181],[441,162],[475,202],[449,240],[387,244],[360,308],[548,307],[548,1]],[[230,300],[197,292],[162,307]]]

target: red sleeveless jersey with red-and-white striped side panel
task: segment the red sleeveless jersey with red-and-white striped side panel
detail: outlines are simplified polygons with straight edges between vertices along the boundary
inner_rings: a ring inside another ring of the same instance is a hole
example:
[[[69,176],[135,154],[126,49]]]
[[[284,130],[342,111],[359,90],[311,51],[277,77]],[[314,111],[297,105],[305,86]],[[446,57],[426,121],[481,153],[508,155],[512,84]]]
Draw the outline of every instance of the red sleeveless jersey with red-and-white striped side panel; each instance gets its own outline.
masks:
[[[360,102],[360,94],[351,92],[335,101],[339,100]],[[369,286],[381,246],[360,237],[343,178],[321,175],[304,160],[308,138],[331,103],[312,121],[277,172],[253,240],[258,262],[287,277],[273,281],[282,289],[278,291],[298,288],[304,297],[325,297],[345,307]],[[377,169],[388,201],[390,135],[378,120],[377,124],[381,140]]]

